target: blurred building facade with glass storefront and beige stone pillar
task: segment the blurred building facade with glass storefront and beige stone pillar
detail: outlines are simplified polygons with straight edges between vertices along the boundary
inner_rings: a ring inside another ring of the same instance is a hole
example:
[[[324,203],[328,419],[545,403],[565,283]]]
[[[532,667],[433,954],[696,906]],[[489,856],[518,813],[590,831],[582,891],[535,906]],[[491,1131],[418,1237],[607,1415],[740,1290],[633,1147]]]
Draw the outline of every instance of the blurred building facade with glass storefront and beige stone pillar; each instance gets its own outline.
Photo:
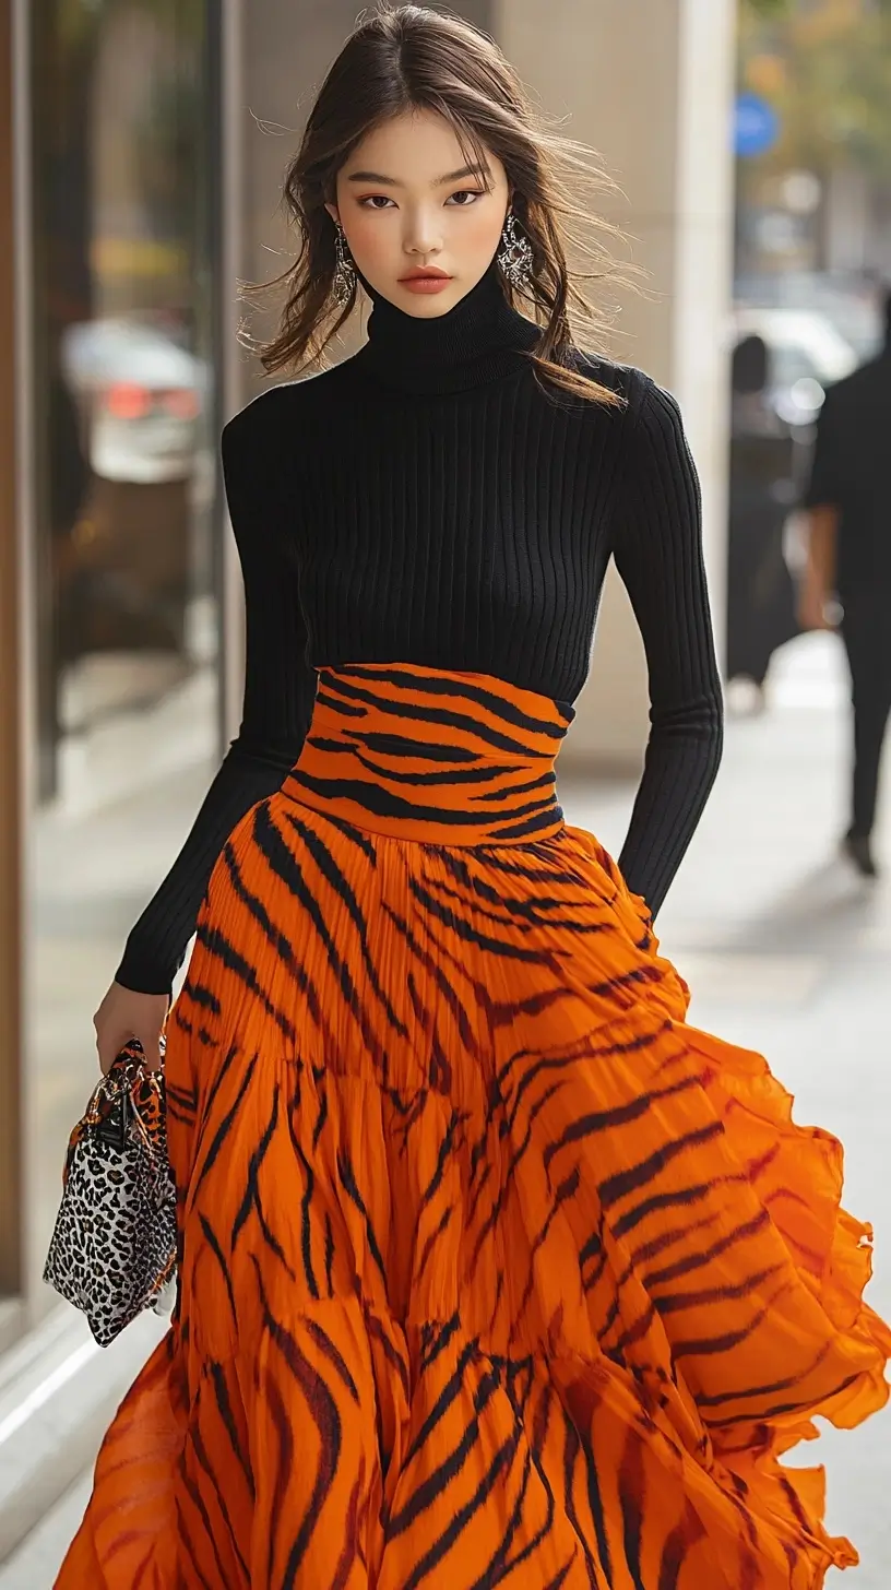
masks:
[[[719,584],[732,0],[455,10],[628,196],[613,218],[652,291],[625,307],[614,351],[681,398]],[[60,1352],[40,1275],[95,1078],[92,1011],[237,728],[216,447],[258,390],[237,283],[286,262],[282,170],[355,14],[0,0],[0,1353],[48,1320]],[[641,647],[611,588],[566,757],[627,766],[644,733]],[[43,1506],[73,1463],[56,1455]],[[0,1498],[0,1557],[33,1522],[27,1506],[6,1533],[2,1518]]]

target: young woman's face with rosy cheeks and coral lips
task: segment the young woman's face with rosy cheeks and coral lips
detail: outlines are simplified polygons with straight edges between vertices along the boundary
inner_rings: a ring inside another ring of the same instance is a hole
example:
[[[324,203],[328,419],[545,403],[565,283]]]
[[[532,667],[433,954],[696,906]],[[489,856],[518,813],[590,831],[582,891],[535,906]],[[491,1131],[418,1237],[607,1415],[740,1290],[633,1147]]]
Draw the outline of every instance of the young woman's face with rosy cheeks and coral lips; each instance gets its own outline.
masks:
[[[407,315],[434,320],[488,270],[508,199],[496,156],[485,170],[468,167],[449,122],[414,111],[363,138],[328,210],[366,281]]]

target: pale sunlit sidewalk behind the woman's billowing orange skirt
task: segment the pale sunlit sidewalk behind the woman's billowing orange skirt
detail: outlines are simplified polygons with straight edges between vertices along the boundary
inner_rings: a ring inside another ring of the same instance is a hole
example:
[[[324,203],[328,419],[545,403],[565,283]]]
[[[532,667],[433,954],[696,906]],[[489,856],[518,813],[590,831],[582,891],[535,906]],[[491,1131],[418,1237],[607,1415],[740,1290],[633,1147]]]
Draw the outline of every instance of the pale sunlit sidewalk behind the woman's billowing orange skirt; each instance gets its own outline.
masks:
[[[845,1202],[877,1227],[870,1302],[891,1317],[891,887],[862,886],[835,859],[843,698],[831,641],[816,636],[788,649],[770,711],[729,725],[714,795],[659,932],[694,989],[691,1019],[765,1053],[797,1097],[797,1119],[845,1140]],[[568,819],[614,852],[632,795],[627,785],[562,787]],[[891,768],[878,836],[891,870],[889,797]],[[859,1573],[832,1574],[827,1590],[888,1590],[891,1415],[850,1434],[827,1433],[796,1461],[827,1464],[829,1526],[862,1557]],[[88,1482],[68,1493],[0,1569],[0,1590],[49,1590],[86,1495]]]

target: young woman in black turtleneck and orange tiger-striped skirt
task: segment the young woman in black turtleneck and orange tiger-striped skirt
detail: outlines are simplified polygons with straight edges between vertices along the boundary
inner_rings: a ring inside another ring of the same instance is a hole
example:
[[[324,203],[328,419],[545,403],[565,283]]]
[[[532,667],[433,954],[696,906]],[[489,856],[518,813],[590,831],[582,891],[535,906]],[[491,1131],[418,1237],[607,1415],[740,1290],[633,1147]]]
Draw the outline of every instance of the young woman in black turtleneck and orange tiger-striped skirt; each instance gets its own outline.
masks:
[[[886,1396],[840,1150],[689,1029],[652,913],[721,743],[675,402],[578,353],[560,146],[471,27],[364,21],[224,432],[245,716],[97,1016],[167,1021],[173,1326],[57,1584],[807,1590],[780,1456]],[[533,318],[516,307],[527,305]],[[652,736],[616,865],[554,758],[616,558]]]

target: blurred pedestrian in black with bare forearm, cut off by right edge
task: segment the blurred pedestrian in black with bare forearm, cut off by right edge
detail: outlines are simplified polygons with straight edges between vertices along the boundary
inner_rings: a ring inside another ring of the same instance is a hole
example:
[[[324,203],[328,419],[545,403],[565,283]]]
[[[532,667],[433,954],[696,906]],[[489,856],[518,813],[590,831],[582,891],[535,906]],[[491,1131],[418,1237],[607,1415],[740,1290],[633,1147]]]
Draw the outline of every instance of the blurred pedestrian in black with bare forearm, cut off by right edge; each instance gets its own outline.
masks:
[[[864,878],[891,714],[891,293],[885,347],[826,394],[813,455],[802,628],[838,625],[851,676],[853,778],[845,851]],[[840,619],[834,614],[840,609]]]

